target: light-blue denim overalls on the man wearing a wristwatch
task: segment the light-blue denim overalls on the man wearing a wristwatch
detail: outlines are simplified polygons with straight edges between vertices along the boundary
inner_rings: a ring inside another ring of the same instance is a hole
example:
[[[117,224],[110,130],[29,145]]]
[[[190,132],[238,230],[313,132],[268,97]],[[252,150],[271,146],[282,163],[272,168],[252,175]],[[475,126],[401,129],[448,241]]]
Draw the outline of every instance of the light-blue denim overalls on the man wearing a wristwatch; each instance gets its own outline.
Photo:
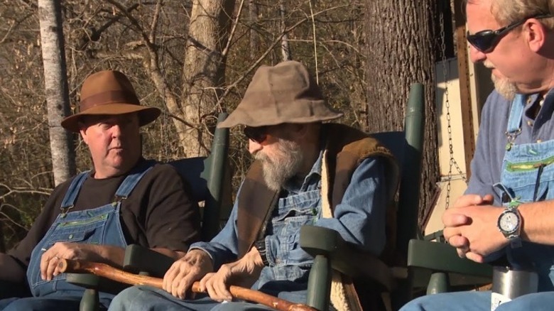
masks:
[[[502,161],[500,190],[504,204],[554,199],[554,140],[515,144],[521,132],[526,95],[517,94],[511,107],[506,136],[506,154]],[[510,263],[538,273],[538,290],[554,290],[554,246],[523,241],[521,247],[506,247]]]

